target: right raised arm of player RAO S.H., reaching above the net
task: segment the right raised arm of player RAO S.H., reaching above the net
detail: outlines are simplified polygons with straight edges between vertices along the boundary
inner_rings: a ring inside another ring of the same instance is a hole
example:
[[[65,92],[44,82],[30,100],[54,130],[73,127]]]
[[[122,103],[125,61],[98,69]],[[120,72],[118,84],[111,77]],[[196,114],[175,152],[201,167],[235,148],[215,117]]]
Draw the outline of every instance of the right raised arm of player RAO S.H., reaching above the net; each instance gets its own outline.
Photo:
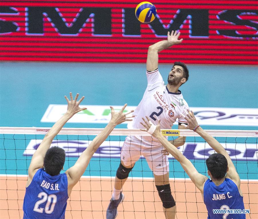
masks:
[[[67,174],[67,181],[68,181],[68,194],[70,195],[73,186],[79,181],[81,176],[83,175],[85,169],[87,168],[89,161],[98,147],[105,141],[111,131],[116,127],[116,125],[123,123],[125,121],[132,121],[132,117],[134,115],[128,115],[133,112],[133,110],[123,113],[124,109],[126,108],[127,104],[125,104],[119,112],[115,112],[114,108],[111,108],[111,120],[107,124],[107,126],[99,133],[90,145],[83,151],[79,159],[76,161],[73,167],[69,168],[65,173]]]

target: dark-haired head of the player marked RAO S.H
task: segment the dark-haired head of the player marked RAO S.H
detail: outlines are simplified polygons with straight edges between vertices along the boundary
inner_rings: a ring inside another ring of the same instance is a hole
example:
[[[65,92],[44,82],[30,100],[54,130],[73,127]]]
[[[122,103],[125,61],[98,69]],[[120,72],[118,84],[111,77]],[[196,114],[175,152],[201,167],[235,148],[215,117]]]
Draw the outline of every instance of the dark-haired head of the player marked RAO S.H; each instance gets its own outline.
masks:
[[[51,176],[58,175],[64,166],[64,149],[54,146],[47,150],[44,158],[44,168]]]

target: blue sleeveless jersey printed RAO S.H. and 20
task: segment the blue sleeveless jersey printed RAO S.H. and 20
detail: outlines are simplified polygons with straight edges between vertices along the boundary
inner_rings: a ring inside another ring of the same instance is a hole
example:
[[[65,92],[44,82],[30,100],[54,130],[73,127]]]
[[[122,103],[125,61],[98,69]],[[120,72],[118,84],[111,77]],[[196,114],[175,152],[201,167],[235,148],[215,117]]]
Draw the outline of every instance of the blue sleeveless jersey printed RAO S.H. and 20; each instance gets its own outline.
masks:
[[[67,205],[67,175],[51,176],[39,169],[26,188],[24,219],[64,219]]]

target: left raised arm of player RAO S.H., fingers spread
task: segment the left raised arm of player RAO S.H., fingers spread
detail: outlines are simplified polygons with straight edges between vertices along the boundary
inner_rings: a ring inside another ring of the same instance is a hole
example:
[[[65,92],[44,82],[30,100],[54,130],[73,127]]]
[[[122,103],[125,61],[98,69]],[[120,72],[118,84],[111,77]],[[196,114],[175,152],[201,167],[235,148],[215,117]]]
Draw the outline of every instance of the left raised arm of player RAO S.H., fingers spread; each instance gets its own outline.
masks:
[[[73,99],[73,95],[70,92],[70,98],[69,100],[67,96],[64,96],[67,100],[67,112],[53,125],[53,127],[48,131],[48,133],[45,135],[44,139],[40,143],[40,146],[35,151],[35,153],[32,156],[30,166],[28,169],[28,180],[26,187],[31,183],[33,176],[37,172],[38,169],[43,168],[44,163],[44,157],[46,155],[46,151],[50,148],[50,145],[54,139],[54,137],[60,132],[64,124],[73,117],[76,113],[85,110],[87,108],[80,108],[79,104],[84,99],[84,96],[77,101],[79,94],[77,93],[75,96],[75,99]]]

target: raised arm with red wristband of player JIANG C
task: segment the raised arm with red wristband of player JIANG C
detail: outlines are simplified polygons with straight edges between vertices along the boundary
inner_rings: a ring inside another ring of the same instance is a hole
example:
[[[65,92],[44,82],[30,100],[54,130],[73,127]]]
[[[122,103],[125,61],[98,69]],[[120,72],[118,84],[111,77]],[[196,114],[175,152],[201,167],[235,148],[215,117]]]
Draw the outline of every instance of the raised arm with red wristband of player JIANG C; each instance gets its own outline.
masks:
[[[224,147],[222,147],[222,145],[214,137],[209,135],[198,125],[198,122],[196,121],[193,111],[188,111],[188,114],[185,116],[185,119],[188,122],[188,125],[186,126],[188,129],[194,130],[197,127],[195,129],[196,133],[198,133],[205,141],[207,141],[207,143],[210,145],[210,147],[212,147],[212,149],[226,157],[228,161],[228,171],[226,177],[232,179],[232,181],[234,181],[238,189],[240,189],[240,177],[236,172],[236,168]]]

